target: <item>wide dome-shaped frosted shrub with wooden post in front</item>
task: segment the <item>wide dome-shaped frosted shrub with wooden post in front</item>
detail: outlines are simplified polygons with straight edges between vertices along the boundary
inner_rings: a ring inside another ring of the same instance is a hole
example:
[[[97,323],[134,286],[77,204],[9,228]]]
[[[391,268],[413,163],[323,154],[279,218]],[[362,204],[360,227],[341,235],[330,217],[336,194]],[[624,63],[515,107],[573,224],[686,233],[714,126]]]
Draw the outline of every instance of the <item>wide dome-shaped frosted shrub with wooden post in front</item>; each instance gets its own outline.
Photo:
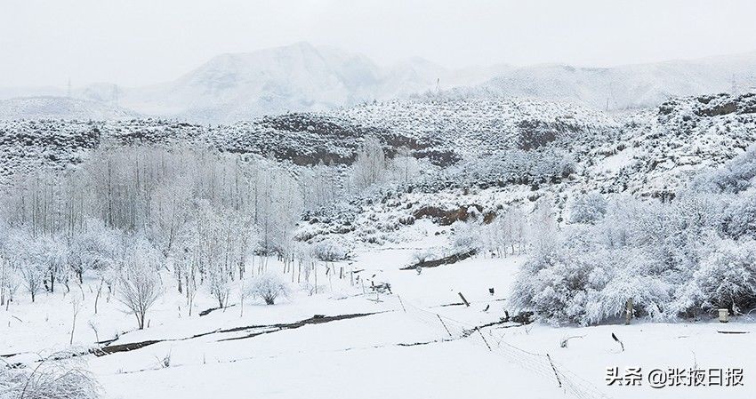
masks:
[[[527,261],[511,300],[550,323],[603,323],[624,315],[628,299],[637,315],[664,319],[671,285],[651,272],[654,263],[638,251],[565,244]]]

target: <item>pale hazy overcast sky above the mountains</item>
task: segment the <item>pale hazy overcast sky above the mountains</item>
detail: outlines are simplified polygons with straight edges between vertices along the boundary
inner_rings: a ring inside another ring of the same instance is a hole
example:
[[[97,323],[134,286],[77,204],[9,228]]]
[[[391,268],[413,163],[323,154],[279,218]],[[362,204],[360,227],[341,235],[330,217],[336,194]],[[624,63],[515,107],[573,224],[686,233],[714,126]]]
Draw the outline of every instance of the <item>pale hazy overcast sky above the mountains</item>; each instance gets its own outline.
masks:
[[[0,0],[0,86],[172,80],[299,41],[388,64],[608,66],[756,51],[752,0]]]

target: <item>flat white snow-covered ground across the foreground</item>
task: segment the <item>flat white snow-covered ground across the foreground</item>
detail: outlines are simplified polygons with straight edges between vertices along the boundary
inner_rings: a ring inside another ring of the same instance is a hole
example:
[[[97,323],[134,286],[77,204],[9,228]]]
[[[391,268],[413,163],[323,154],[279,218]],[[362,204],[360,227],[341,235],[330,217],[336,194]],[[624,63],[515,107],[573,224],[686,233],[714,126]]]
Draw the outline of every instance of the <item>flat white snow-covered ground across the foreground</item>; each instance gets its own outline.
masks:
[[[19,354],[4,358],[15,363],[69,348],[69,299],[83,291],[74,347],[96,346],[90,322],[101,340],[118,334],[109,347],[159,341],[125,352],[85,355],[105,397],[114,399],[752,397],[749,371],[756,370],[756,359],[747,350],[756,333],[752,323],[559,328],[497,323],[525,259],[477,257],[425,268],[420,275],[399,270],[411,263],[417,248],[439,240],[429,235],[412,243],[364,248],[350,263],[334,265],[336,270],[344,267],[342,279],[332,274],[329,280],[321,265],[318,294],[297,290],[275,306],[246,299],[243,314],[236,303],[200,316],[200,310],[213,307],[213,299],[200,292],[189,316],[185,299],[166,293],[149,312],[149,327],[143,331],[134,331],[133,315],[107,296],[93,314],[94,281],[73,289],[68,300],[56,298],[62,292],[40,296],[35,304],[22,296],[0,312],[1,352]],[[270,269],[279,267],[270,260]],[[390,283],[392,293],[371,291],[371,281]],[[459,292],[470,307],[461,304]],[[318,323],[314,315],[326,317]],[[624,351],[612,333],[623,341]],[[560,347],[568,337],[576,338]],[[607,368],[613,367],[641,367],[644,372],[742,368],[744,386],[655,389],[644,379],[640,387],[607,387]]]

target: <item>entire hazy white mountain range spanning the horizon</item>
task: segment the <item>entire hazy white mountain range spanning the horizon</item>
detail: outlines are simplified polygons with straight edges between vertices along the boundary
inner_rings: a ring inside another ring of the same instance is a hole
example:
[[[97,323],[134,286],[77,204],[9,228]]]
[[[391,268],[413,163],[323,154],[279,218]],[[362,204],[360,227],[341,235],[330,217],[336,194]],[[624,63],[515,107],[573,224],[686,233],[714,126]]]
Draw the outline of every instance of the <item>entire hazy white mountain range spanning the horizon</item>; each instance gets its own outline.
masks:
[[[753,90],[756,52],[614,68],[549,64],[450,69],[420,58],[381,66],[357,53],[298,43],[222,54],[163,84],[136,88],[91,84],[72,94],[77,99],[117,103],[147,116],[227,124],[438,92],[456,98],[519,97],[622,110],[655,107],[673,96]],[[0,89],[0,99],[60,96],[62,92],[55,88]]]

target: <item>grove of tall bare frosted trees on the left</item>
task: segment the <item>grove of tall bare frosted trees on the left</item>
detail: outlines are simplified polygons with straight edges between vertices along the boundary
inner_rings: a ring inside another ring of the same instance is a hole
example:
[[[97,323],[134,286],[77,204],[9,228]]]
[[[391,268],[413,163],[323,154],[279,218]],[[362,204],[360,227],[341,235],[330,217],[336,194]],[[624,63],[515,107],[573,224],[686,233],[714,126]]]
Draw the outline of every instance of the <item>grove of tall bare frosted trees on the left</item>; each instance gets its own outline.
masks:
[[[225,306],[229,283],[255,273],[251,257],[293,253],[304,208],[300,183],[276,163],[153,147],[101,148],[67,172],[19,175],[0,200],[4,303],[18,288],[32,301],[69,291],[87,274],[140,328],[165,289],[190,303],[205,286]]]

